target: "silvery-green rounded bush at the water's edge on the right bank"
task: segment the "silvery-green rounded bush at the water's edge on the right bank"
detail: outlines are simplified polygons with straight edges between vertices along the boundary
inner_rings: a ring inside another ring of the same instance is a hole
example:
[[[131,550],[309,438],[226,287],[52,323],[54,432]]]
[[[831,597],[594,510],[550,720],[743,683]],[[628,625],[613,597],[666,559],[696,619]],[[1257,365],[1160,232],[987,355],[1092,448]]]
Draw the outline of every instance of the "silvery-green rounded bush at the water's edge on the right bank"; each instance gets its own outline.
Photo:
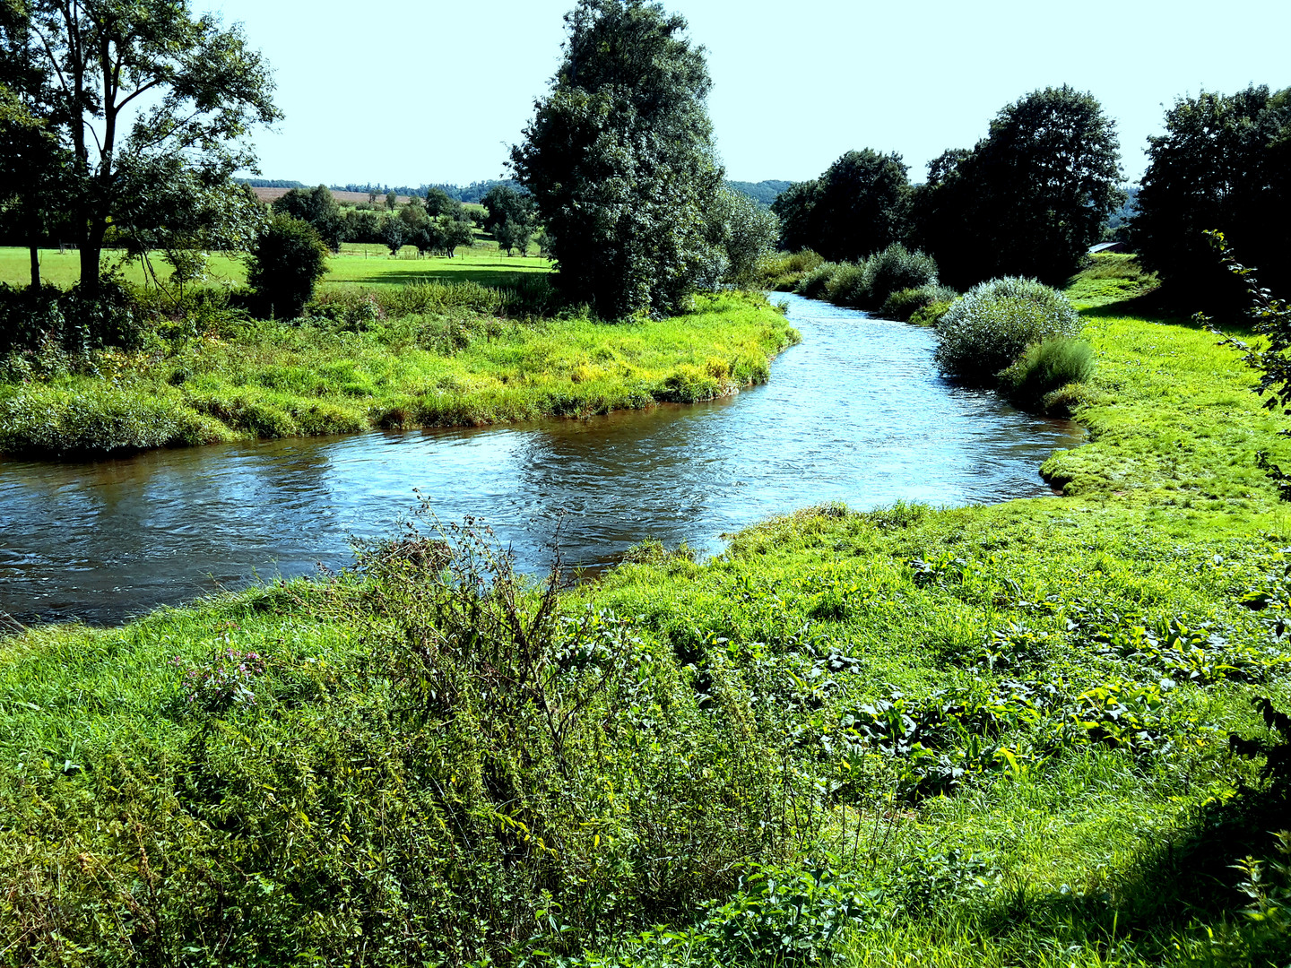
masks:
[[[989,386],[1028,346],[1079,330],[1081,318],[1056,289],[1034,279],[993,279],[941,318],[935,359],[944,374]]]

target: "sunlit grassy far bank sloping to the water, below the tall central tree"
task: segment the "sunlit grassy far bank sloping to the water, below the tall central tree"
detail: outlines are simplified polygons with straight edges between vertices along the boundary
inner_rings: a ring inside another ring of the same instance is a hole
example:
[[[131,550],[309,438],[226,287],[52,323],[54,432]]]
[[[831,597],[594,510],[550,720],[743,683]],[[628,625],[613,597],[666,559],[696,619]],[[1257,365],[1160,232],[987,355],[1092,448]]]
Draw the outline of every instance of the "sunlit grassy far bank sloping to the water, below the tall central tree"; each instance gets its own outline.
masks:
[[[0,452],[84,457],[695,403],[764,382],[771,359],[797,339],[754,294],[613,325],[469,310],[257,321],[10,374],[0,383]]]

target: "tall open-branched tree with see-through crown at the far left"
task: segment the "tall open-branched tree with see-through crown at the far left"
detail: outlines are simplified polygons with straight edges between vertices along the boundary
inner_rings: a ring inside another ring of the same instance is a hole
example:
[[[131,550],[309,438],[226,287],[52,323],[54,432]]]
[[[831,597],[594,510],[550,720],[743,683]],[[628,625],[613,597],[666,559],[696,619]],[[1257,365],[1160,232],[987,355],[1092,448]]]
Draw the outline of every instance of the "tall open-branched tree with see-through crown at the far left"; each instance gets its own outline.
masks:
[[[108,225],[139,173],[196,172],[204,185],[254,159],[256,124],[279,117],[269,67],[239,27],[187,0],[31,0],[30,30],[53,77],[52,117],[71,161],[67,213],[81,288],[99,288]]]

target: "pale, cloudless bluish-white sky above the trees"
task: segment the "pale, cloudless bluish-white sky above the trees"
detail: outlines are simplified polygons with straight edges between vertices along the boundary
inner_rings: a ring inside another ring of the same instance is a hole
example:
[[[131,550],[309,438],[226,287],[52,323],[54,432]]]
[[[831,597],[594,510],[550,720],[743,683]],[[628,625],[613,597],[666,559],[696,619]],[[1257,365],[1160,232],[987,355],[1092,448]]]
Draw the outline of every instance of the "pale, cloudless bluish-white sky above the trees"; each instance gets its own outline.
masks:
[[[457,183],[506,176],[560,62],[574,0],[194,0],[245,26],[285,117],[266,178]],[[1115,120],[1130,181],[1166,108],[1199,90],[1291,85],[1291,0],[665,0],[707,50],[727,177],[815,178],[853,148],[914,181],[1028,92],[1070,84]]]

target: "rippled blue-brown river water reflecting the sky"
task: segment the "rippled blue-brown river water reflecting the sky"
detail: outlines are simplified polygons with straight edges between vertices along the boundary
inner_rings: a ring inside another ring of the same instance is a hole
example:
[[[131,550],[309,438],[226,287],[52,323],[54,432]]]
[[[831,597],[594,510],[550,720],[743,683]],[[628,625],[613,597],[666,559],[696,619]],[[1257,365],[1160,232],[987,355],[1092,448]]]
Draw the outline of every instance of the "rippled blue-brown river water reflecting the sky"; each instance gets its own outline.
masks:
[[[719,536],[808,503],[963,505],[1048,493],[1065,421],[945,383],[932,334],[785,297],[803,343],[764,387],[696,407],[485,430],[160,450],[92,465],[0,462],[0,610],[120,621],[254,574],[350,560],[413,488],[442,519],[483,515],[538,565],[565,512],[567,560],[644,537]]]

